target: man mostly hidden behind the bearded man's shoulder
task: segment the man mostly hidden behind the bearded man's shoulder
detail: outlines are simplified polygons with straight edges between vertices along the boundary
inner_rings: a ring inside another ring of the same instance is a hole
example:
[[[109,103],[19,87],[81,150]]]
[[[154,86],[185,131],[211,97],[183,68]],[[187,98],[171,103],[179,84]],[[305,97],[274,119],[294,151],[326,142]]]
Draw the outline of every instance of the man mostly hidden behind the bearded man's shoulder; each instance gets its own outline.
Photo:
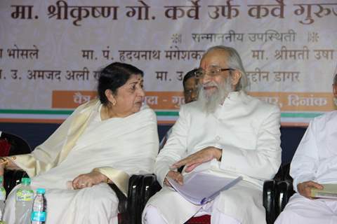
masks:
[[[198,97],[198,79],[195,78],[195,72],[197,69],[193,69],[186,73],[183,78],[183,87],[184,87],[184,97],[185,97],[185,104],[190,102],[194,102],[197,100]],[[172,127],[169,131],[166,132],[163,139],[161,139],[159,144],[159,151],[161,148],[164,147],[166,144],[167,139],[169,139],[170,134],[172,133]]]

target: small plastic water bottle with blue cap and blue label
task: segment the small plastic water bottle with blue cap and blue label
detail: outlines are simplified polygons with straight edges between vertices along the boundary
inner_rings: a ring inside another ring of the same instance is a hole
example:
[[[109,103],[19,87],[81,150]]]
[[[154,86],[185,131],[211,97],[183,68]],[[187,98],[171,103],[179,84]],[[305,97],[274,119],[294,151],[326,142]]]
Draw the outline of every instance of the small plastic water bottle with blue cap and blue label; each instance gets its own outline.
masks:
[[[47,201],[44,193],[46,193],[44,188],[37,188],[37,196],[34,198],[31,216],[32,224],[46,223]]]

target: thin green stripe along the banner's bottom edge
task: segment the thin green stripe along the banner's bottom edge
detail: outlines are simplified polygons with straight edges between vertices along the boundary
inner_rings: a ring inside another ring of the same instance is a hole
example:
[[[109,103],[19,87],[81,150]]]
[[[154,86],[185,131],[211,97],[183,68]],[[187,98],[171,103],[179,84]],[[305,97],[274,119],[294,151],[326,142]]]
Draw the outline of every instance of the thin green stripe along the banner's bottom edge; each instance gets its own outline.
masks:
[[[0,109],[0,113],[20,113],[20,114],[58,114],[69,115],[72,110],[15,110]],[[178,116],[178,111],[156,111],[157,116]],[[322,113],[281,113],[282,118],[315,118]]]

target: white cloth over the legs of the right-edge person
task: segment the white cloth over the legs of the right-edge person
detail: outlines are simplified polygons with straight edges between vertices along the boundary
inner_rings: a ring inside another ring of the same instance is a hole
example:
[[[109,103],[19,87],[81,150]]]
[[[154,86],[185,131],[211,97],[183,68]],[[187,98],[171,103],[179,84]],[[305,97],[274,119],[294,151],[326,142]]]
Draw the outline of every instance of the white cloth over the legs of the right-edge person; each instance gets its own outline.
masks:
[[[296,193],[275,221],[275,224],[291,223],[337,223],[337,200],[310,200]]]

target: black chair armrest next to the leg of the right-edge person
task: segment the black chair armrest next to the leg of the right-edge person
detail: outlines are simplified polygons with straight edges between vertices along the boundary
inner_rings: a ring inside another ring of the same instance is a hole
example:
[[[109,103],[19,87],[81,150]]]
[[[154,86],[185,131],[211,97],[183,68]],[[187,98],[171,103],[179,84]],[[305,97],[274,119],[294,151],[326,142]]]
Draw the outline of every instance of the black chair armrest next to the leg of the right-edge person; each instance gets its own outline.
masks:
[[[292,181],[279,181],[276,186],[277,189],[277,197],[275,201],[275,218],[283,211],[284,207],[286,207],[286,203],[288,203],[289,198],[295,191],[293,190]]]

